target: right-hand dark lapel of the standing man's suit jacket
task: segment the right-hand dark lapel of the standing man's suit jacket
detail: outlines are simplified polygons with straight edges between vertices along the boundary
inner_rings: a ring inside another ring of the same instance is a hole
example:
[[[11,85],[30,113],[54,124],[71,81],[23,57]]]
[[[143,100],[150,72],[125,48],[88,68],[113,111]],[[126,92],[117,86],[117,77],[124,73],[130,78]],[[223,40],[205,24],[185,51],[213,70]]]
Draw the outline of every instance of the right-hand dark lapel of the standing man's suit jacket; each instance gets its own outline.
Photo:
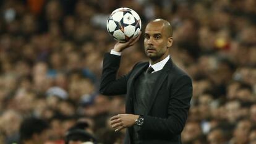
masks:
[[[171,69],[171,65],[172,65],[172,61],[171,61],[171,58],[170,58],[169,61],[166,62],[166,64],[164,65],[164,67],[162,69],[163,71],[161,72],[161,74],[157,78],[156,83],[153,87],[153,91],[152,91],[152,94],[150,96],[150,102],[148,104],[147,114],[150,112],[151,107],[153,106],[153,103],[155,102],[158,91],[160,90],[161,86],[163,85],[164,80],[168,76],[168,72]]]

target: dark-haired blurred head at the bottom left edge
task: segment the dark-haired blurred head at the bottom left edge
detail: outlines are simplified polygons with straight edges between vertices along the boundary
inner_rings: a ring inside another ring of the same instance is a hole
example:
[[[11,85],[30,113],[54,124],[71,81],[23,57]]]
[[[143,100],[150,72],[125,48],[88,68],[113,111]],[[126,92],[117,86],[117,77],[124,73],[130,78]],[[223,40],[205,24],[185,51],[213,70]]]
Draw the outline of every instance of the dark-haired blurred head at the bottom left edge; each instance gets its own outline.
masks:
[[[30,117],[20,125],[20,143],[22,144],[44,144],[49,135],[49,125],[42,119]]]

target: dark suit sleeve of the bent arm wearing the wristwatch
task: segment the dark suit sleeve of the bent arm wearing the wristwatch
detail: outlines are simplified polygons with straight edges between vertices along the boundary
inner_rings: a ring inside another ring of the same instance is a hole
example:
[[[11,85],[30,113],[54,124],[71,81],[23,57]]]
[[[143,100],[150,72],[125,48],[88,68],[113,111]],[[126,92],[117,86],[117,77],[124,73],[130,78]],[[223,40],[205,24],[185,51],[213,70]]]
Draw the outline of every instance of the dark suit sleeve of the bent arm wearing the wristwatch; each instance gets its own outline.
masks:
[[[186,123],[192,98],[192,81],[189,76],[177,78],[171,86],[169,98],[168,118],[162,119],[153,116],[144,116],[144,123],[139,133],[146,135],[148,132],[157,135],[179,135]]]

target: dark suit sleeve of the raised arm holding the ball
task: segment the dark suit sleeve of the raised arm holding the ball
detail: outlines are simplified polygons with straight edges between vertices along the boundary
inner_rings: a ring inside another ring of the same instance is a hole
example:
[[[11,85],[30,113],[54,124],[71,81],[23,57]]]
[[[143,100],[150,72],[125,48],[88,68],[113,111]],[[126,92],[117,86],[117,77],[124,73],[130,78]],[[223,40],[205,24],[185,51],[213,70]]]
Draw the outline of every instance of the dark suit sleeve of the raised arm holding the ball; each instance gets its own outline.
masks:
[[[116,79],[121,56],[105,54],[100,82],[100,93],[103,95],[123,95],[126,93],[127,76]]]

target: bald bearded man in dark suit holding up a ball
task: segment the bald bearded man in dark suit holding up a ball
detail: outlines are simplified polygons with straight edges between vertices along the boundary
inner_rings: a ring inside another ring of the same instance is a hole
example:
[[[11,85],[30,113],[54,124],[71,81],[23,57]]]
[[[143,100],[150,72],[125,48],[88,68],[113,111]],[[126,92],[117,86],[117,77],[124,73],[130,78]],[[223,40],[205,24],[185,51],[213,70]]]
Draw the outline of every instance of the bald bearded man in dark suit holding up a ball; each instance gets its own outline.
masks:
[[[121,52],[136,43],[139,36],[127,43],[116,43],[103,61],[100,92],[127,95],[126,114],[110,119],[115,131],[128,128],[125,143],[178,144],[189,111],[192,82],[169,56],[173,37],[168,21],[151,21],[144,37],[150,62],[138,63],[129,74],[116,79]]]

